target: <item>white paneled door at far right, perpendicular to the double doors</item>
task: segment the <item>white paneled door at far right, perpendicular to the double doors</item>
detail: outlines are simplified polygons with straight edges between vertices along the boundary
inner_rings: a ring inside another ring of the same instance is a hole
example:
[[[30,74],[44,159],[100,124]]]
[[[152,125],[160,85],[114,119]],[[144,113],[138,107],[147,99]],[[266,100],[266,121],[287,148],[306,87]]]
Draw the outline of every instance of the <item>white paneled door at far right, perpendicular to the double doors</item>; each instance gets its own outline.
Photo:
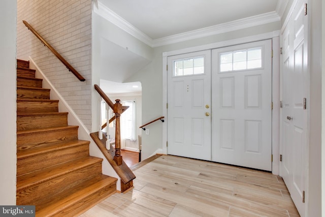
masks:
[[[309,75],[306,1],[298,1],[282,33],[280,175],[301,216],[305,216]]]

